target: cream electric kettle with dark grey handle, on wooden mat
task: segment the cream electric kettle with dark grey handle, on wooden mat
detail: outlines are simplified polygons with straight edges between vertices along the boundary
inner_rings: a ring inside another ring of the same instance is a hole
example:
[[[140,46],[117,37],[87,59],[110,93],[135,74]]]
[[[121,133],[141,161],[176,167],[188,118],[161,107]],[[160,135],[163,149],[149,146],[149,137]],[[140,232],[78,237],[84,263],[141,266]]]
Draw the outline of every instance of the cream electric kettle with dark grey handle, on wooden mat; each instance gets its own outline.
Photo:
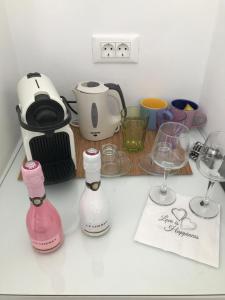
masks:
[[[75,87],[74,93],[80,132],[85,139],[103,140],[113,136],[119,130],[120,111],[126,109],[126,105],[118,84],[104,84],[96,81],[80,82]]]

